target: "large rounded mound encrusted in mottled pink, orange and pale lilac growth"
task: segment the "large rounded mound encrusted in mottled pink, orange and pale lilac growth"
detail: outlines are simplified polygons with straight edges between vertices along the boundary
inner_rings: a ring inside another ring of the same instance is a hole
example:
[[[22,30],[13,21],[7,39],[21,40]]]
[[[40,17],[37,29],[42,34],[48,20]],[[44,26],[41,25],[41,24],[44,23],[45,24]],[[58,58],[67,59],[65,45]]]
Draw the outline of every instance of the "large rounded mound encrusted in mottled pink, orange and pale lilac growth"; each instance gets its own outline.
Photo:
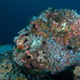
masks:
[[[14,38],[16,46],[13,48],[12,59],[23,72],[31,72],[28,77],[37,73],[34,80],[39,80],[39,76],[43,76],[39,73],[43,71],[55,74],[80,64],[80,15],[73,10],[48,8],[33,16],[26,28],[18,34]],[[0,69],[0,73],[11,71],[12,64],[6,65],[6,61],[1,64],[4,69]],[[5,70],[6,66],[9,70]],[[11,80],[26,80],[25,76],[19,76],[18,73]]]

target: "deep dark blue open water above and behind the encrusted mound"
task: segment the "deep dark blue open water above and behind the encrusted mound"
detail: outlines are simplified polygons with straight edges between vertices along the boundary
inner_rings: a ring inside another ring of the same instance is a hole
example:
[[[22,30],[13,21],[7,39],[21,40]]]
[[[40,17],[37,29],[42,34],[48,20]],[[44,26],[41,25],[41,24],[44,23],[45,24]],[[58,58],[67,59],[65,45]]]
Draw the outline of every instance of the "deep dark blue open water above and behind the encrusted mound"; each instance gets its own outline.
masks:
[[[35,14],[52,7],[80,13],[80,0],[0,0],[0,44],[13,43],[14,36]]]

